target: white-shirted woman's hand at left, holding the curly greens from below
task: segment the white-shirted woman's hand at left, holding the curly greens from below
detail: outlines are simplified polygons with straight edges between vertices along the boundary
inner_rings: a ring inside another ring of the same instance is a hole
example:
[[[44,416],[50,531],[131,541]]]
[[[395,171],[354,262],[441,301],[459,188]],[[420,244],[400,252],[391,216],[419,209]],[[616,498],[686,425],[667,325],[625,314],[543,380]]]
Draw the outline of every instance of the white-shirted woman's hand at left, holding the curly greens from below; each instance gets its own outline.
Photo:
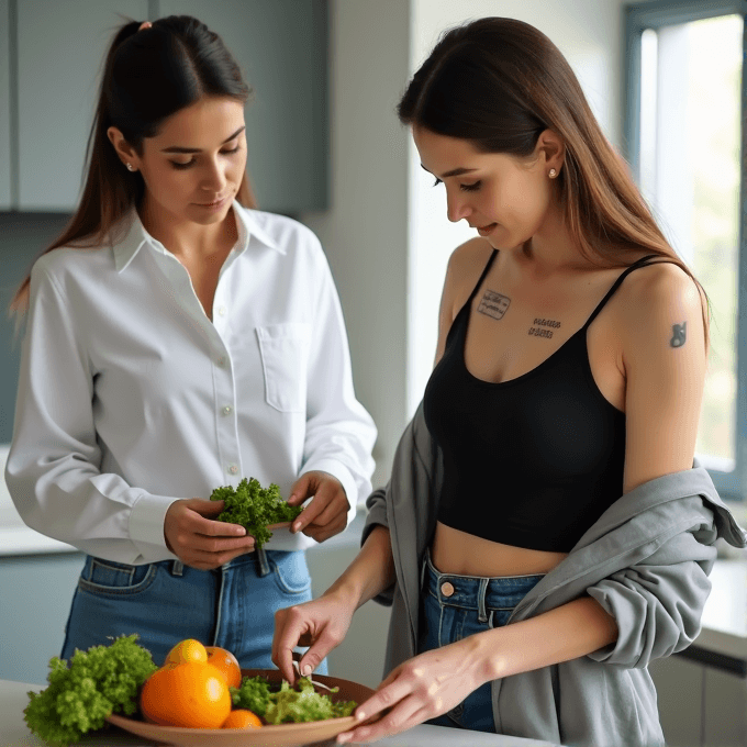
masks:
[[[238,524],[216,522],[224,501],[190,498],[171,503],[164,520],[166,547],[186,566],[199,570],[218,568],[254,550],[254,537]]]

